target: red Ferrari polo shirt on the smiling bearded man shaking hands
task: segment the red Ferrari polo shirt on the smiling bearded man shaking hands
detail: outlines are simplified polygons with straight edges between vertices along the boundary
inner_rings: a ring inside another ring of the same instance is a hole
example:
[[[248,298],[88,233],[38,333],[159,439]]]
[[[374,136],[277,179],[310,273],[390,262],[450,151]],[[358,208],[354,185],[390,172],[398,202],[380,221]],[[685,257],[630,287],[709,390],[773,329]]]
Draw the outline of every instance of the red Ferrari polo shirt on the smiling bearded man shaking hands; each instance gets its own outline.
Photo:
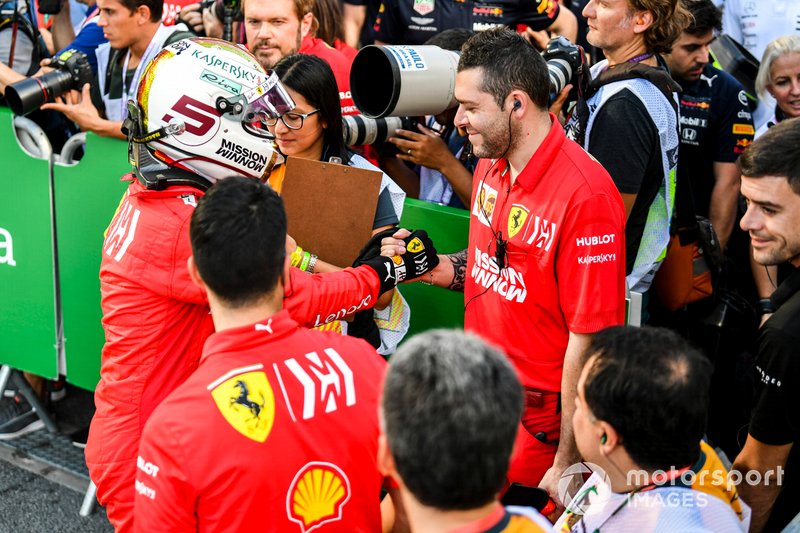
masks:
[[[625,209],[605,169],[557,122],[513,185],[507,166],[484,159],[475,169],[465,327],[502,348],[524,385],[560,391],[569,332],[624,321]]]

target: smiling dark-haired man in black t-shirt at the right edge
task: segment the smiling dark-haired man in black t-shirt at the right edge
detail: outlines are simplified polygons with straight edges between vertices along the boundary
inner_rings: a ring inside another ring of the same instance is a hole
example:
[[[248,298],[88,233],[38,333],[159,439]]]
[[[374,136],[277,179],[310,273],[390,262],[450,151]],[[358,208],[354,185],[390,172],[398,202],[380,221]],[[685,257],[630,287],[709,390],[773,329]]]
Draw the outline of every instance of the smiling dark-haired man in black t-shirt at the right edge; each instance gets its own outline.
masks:
[[[762,483],[740,486],[753,508],[751,531],[779,531],[797,514],[800,476],[800,120],[785,120],[756,139],[739,158],[753,258],[787,263],[791,274],[770,297],[776,311],[761,327],[755,366],[755,402],[747,441],[734,461]],[[781,471],[785,470],[785,476]],[[767,474],[771,475],[767,478]],[[778,481],[776,483],[776,480]]]

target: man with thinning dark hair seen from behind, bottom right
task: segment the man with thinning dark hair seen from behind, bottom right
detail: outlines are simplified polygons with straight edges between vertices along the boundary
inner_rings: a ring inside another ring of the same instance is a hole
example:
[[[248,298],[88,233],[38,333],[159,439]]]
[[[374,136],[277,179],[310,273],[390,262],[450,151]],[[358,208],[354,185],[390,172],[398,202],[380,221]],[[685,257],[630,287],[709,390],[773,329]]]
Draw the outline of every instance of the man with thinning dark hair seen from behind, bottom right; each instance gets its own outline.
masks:
[[[670,330],[632,326],[596,334],[585,355],[573,426],[593,473],[555,529],[746,531],[749,510],[701,442],[708,359]]]

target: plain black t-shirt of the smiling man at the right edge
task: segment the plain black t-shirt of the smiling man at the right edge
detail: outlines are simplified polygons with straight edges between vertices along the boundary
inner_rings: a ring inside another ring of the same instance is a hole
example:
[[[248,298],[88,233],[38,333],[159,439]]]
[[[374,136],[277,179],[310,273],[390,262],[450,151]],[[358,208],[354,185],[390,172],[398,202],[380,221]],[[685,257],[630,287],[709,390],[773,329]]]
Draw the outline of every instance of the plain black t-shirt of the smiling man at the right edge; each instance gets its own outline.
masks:
[[[767,530],[779,531],[798,512],[800,469],[800,269],[772,294],[778,308],[761,328],[750,435],[773,446],[794,443]]]

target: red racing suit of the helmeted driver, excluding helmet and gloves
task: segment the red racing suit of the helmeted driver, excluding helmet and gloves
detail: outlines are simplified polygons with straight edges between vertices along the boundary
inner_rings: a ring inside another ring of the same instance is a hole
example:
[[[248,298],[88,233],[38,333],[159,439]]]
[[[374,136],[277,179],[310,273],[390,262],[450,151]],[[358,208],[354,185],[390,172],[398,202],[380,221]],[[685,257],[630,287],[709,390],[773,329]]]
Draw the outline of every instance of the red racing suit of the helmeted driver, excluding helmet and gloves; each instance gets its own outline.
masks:
[[[106,342],[86,464],[118,532],[130,531],[142,428],[196,368],[213,332],[205,294],[189,278],[189,220],[202,192],[147,190],[133,180],[108,227],[100,265]],[[310,276],[292,269],[284,307],[301,326],[341,318],[376,300],[369,267]]]

